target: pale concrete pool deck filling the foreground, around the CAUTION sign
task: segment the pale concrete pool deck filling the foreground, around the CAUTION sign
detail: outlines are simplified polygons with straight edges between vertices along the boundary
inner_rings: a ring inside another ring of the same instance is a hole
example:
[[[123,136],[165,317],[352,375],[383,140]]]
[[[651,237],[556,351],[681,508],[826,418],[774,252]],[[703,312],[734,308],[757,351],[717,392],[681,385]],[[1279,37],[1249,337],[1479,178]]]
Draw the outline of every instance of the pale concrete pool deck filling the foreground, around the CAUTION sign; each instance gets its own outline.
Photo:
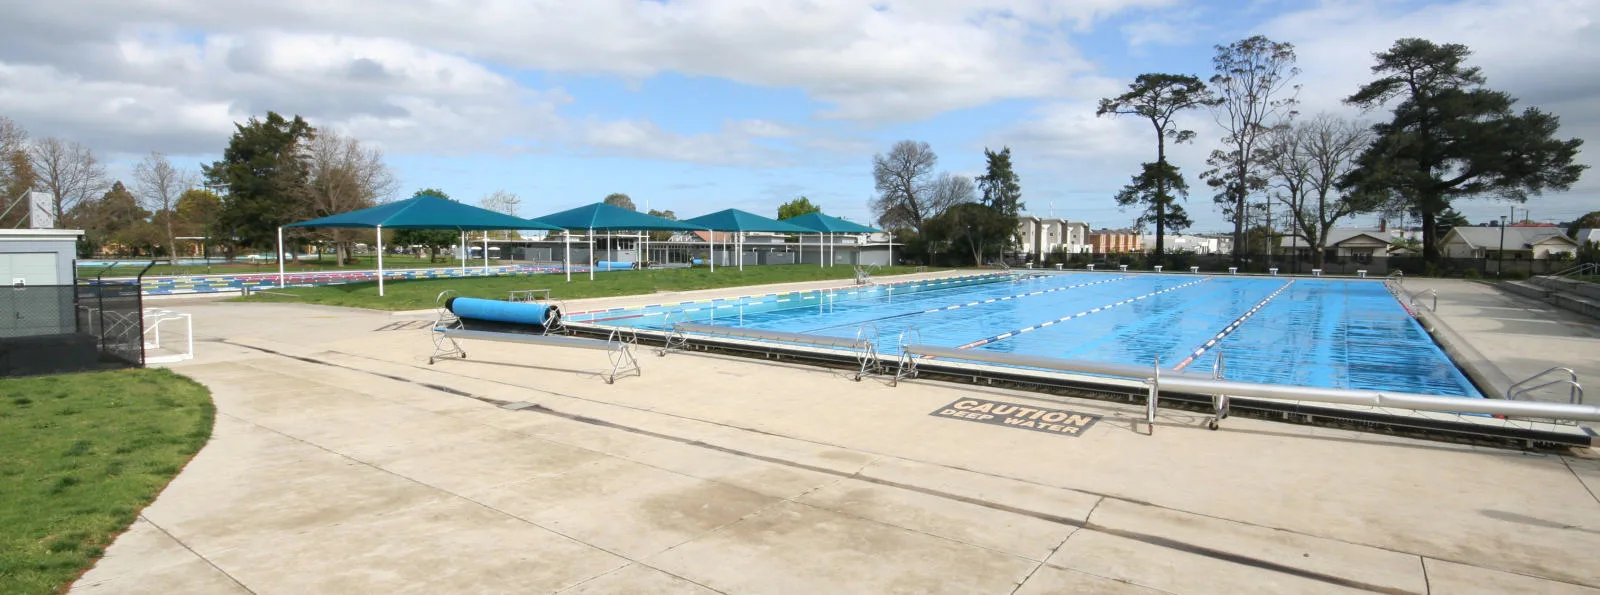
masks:
[[[214,437],[74,592],[1600,592],[1592,449],[1184,411],[1144,435],[1142,405],[699,353],[608,385],[598,352],[429,366],[426,317],[163,307],[195,315],[174,369]],[[1458,331],[1539,357],[1530,326]],[[962,400],[1099,421],[931,416]]]

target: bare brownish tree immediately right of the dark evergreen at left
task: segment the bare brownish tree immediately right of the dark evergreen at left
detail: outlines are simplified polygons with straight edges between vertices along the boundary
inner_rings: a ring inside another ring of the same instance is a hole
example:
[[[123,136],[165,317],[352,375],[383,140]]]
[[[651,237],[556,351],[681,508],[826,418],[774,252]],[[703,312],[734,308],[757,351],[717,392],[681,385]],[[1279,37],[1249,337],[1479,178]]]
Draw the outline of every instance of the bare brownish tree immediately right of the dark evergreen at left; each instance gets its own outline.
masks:
[[[306,146],[310,165],[310,200],[306,216],[325,218],[374,206],[395,194],[394,171],[384,152],[336,131],[320,131]],[[339,262],[349,259],[350,230],[325,229],[317,237],[331,240]]]

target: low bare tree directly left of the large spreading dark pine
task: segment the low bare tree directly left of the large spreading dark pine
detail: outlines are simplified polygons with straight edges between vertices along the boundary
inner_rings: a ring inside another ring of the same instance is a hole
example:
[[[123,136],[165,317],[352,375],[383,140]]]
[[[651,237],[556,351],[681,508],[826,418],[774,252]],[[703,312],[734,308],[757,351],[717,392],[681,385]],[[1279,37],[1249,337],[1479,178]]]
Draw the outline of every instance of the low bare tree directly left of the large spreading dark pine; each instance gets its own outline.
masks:
[[[1366,147],[1365,126],[1328,114],[1274,131],[1262,146],[1262,170],[1290,208],[1291,232],[1306,238],[1314,267],[1323,264],[1323,246],[1334,222],[1371,213],[1384,203],[1381,194],[1339,192],[1338,184]]]

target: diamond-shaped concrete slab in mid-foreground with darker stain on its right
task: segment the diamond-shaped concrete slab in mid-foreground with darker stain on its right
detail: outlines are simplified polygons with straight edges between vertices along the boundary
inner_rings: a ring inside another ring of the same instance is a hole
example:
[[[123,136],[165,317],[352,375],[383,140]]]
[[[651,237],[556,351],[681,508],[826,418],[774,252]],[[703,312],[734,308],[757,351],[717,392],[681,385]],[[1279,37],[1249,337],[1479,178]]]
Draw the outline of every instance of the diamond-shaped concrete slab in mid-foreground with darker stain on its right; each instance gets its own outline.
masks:
[[[472,494],[478,502],[634,560],[778,499],[622,459]]]

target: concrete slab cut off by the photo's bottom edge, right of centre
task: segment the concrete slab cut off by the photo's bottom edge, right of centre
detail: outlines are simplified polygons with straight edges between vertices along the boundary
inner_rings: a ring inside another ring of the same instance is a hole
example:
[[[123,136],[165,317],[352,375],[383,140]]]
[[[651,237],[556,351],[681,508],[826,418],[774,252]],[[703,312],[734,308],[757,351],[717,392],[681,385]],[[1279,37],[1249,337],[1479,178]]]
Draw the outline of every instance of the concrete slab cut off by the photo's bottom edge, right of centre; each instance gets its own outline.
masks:
[[[726,593],[1008,593],[1038,565],[795,502],[645,561]]]

